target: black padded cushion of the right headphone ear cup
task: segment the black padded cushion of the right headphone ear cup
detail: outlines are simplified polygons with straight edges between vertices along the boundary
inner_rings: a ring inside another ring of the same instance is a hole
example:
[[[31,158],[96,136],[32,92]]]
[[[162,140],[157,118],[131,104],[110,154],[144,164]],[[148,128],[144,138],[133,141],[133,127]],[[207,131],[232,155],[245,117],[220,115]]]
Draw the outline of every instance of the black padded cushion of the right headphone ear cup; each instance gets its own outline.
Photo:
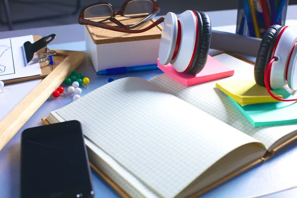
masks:
[[[265,69],[271,59],[273,48],[278,37],[277,33],[280,32],[279,30],[281,27],[282,26],[280,25],[272,25],[270,28],[268,28],[262,38],[260,47],[258,49],[258,54],[254,66],[254,79],[258,85],[263,87],[265,87]]]

